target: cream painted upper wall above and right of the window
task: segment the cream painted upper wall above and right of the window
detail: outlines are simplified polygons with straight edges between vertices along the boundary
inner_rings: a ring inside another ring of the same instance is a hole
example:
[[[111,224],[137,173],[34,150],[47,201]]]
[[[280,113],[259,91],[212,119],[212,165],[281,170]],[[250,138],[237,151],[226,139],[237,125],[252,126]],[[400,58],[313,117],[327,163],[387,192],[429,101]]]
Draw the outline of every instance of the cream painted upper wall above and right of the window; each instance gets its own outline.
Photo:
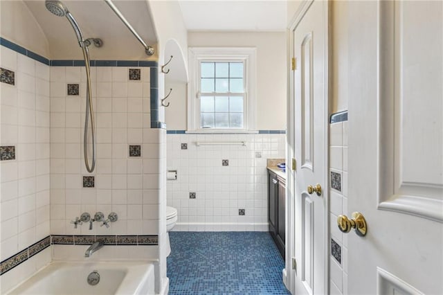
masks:
[[[286,34],[285,33],[188,33],[190,47],[244,46],[257,48],[257,129],[286,127]],[[193,79],[193,77],[190,77]],[[171,116],[186,118],[186,108]],[[169,110],[167,110],[169,111]],[[170,118],[171,116],[168,116]],[[183,120],[181,120],[183,121]],[[166,120],[168,125],[168,120]],[[186,129],[186,125],[176,129]]]

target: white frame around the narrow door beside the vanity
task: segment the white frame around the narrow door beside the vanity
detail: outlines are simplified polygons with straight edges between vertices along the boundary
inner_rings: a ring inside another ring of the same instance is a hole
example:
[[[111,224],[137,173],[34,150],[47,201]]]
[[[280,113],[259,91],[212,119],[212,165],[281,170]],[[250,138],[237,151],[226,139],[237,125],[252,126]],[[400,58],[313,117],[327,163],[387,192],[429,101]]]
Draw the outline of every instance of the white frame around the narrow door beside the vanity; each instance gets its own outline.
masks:
[[[286,184],[286,259],[285,259],[285,269],[283,269],[283,282],[286,285],[287,289],[294,294],[295,292],[295,280],[293,280],[296,269],[293,269],[293,257],[295,256],[296,249],[296,240],[295,240],[295,171],[291,169],[292,159],[295,158],[294,152],[291,147],[295,146],[295,138],[293,136],[293,125],[295,122],[294,114],[293,114],[293,93],[294,93],[294,85],[293,78],[294,72],[291,69],[292,57],[294,52],[293,46],[293,31],[296,29],[302,18],[305,16],[307,10],[311,7],[311,4],[314,3],[314,0],[304,0],[298,6],[298,10],[293,15],[291,21],[289,22],[289,26],[287,28],[287,161],[290,169],[287,169],[287,184]],[[329,0],[325,0],[323,5],[325,9],[323,10],[323,24],[325,24],[325,69],[323,81],[325,85],[325,93],[324,93],[324,114],[323,114],[323,127],[324,127],[324,166],[323,166],[323,174],[325,179],[325,184],[323,186],[323,202],[325,206],[324,212],[324,226],[325,226],[325,235],[324,235],[324,281],[323,281],[323,289],[326,293],[329,293],[329,95],[330,95],[330,83],[329,79],[329,60],[330,60],[330,52],[329,52],[329,36],[331,34],[331,25],[330,21],[330,9],[331,5]]]

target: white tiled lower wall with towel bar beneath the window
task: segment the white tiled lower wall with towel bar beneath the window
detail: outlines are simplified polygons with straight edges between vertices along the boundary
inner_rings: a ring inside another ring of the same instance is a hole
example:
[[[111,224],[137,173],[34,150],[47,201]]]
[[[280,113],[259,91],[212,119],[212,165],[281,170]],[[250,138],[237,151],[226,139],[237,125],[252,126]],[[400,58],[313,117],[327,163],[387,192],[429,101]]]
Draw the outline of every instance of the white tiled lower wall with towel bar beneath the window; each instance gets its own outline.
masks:
[[[168,205],[178,211],[173,231],[268,231],[266,159],[284,158],[285,136],[168,131],[167,166],[177,170],[167,181]],[[217,142],[237,144],[204,145]]]

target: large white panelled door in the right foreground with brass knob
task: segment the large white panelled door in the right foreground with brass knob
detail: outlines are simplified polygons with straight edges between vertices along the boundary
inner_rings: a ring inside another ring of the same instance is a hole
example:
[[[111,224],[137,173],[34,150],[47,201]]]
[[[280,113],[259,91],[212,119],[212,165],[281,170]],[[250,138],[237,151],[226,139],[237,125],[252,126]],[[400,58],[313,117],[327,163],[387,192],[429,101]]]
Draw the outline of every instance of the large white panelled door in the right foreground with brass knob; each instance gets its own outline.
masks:
[[[443,294],[443,2],[349,15],[347,294]]]

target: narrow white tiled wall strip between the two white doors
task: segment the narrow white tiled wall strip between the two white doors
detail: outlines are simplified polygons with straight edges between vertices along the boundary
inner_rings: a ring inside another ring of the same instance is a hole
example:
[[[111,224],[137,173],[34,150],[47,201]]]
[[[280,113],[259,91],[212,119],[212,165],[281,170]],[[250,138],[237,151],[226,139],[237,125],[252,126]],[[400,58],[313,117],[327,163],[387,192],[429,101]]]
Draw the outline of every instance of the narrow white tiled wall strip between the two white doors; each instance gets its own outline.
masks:
[[[347,215],[347,111],[334,114],[329,125],[331,294],[347,294],[347,235],[338,230],[337,216]]]

